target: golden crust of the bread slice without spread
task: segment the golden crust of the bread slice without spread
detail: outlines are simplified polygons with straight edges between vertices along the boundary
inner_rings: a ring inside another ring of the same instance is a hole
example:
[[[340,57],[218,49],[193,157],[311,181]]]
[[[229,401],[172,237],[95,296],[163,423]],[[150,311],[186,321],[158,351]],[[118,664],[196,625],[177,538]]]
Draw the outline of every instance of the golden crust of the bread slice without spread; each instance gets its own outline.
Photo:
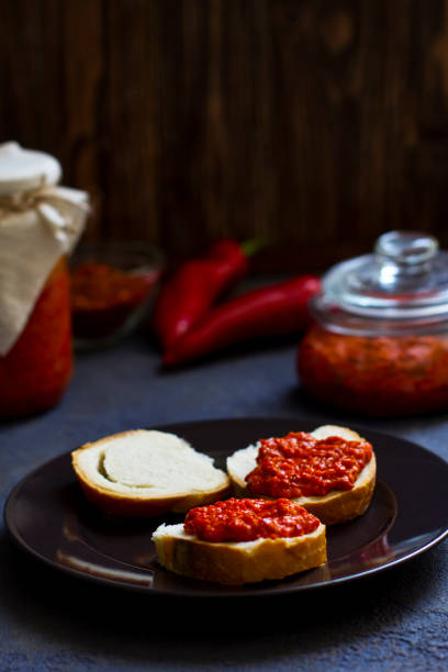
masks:
[[[71,452],[71,464],[77,477],[77,480],[82,489],[86,499],[97,506],[103,513],[116,517],[150,517],[158,516],[164,513],[186,513],[193,506],[202,504],[211,504],[216,500],[225,497],[231,490],[231,481],[223,479],[223,484],[208,491],[198,492],[179,492],[167,496],[150,497],[147,494],[136,492],[122,493],[113,489],[113,482],[110,488],[104,488],[91,480],[89,474],[82,467],[81,457],[86,450],[101,447],[114,438],[131,438],[142,429],[130,429],[111,436],[103,437],[98,441],[85,444],[77,450]]]

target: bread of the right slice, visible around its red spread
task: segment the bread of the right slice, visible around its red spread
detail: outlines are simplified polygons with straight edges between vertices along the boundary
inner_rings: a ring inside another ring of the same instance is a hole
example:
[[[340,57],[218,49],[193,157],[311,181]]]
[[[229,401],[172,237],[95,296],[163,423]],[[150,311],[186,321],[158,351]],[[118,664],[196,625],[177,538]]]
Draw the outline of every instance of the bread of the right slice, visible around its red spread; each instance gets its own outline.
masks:
[[[338,436],[349,441],[363,440],[359,434],[348,427],[336,425],[323,425],[311,432],[311,435],[318,440],[329,436]],[[245,479],[255,469],[257,455],[258,445],[237,450],[227,458],[227,472],[236,496],[250,496]],[[333,490],[323,496],[302,496],[294,499],[293,502],[304,506],[325,525],[344,523],[365,513],[372,499],[376,478],[377,462],[374,453],[372,453],[370,461],[358,475],[351,490]],[[257,496],[261,495],[257,494]]]

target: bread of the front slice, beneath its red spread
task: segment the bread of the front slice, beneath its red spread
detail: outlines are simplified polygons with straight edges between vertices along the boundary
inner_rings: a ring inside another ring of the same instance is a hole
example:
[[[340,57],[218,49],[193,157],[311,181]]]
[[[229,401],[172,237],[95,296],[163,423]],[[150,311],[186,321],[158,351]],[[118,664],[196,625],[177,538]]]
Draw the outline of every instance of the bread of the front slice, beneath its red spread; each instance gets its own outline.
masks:
[[[183,524],[160,525],[153,534],[157,557],[171,572],[227,585],[284,579],[326,562],[326,535],[322,523],[301,537],[255,541],[202,541],[183,530]]]

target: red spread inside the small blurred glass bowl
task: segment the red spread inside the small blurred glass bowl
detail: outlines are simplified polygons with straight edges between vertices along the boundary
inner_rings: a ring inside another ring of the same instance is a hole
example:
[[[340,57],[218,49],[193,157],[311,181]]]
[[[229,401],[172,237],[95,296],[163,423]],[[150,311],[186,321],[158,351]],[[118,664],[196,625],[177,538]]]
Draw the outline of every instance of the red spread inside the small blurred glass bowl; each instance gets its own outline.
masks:
[[[113,334],[145,301],[158,273],[132,275],[109,264],[86,262],[71,270],[75,336]]]

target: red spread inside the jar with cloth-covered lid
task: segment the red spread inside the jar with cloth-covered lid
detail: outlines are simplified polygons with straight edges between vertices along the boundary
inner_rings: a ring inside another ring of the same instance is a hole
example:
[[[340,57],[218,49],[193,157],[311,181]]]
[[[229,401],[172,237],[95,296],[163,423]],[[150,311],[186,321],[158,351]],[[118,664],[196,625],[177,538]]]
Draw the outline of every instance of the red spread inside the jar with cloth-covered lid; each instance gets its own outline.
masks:
[[[11,350],[0,357],[0,416],[27,415],[59,401],[72,370],[69,279],[60,259]]]

